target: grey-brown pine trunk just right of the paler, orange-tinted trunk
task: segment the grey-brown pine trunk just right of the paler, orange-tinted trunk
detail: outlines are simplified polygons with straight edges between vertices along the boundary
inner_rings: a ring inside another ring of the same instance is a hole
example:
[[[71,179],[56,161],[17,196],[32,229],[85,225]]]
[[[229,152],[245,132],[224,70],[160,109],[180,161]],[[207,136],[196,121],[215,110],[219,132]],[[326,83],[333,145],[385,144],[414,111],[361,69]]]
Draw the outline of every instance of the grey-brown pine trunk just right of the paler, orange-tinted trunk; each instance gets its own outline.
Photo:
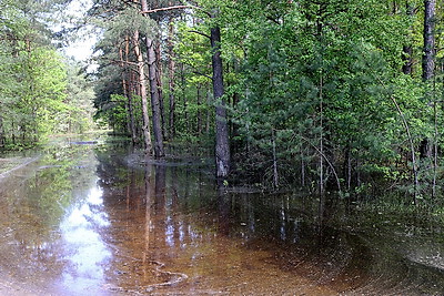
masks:
[[[148,11],[147,0],[140,0],[142,11]],[[160,89],[158,85],[158,68],[155,59],[155,44],[154,40],[147,35],[148,48],[148,79],[150,81],[151,93],[151,108],[153,116],[153,133],[154,133],[154,155],[157,159],[163,157],[165,152],[163,150],[163,134],[160,114]]]

